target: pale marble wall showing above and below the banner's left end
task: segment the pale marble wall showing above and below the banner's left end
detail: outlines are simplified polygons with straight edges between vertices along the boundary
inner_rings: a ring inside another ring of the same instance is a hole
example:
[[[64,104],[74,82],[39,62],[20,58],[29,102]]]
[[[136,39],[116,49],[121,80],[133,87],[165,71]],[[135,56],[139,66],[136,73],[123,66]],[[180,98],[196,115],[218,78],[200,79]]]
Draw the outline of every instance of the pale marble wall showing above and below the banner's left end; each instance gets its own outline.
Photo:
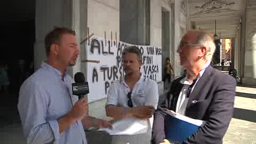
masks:
[[[105,38],[106,31],[106,38],[111,39],[112,31],[112,38],[117,38],[117,41],[119,41],[119,0],[88,0],[87,13],[85,11],[84,17],[82,18],[87,19],[86,23],[84,23],[84,27],[86,27],[86,25],[89,27],[89,35],[93,33],[95,37]],[[83,33],[83,31],[81,31],[81,33]],[[81,70],[86,71],[83,63]],[[89,97],[93,97],[93,95],[89,94]],[[106,99],[89,103],[89,115],[109,119],[106,116],[105,103]]]

